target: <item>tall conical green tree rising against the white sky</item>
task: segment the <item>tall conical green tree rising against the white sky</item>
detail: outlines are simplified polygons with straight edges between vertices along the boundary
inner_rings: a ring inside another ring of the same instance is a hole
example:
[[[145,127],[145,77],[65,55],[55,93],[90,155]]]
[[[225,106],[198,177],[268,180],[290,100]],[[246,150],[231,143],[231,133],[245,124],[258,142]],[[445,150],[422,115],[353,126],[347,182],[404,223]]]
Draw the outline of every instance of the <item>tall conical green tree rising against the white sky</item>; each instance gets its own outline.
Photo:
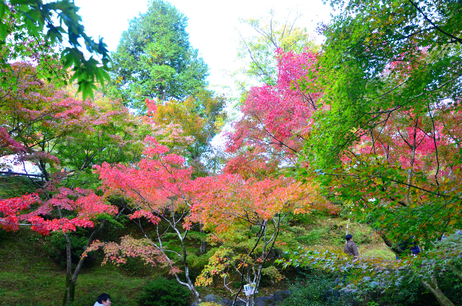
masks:
[[[114,57],[114,84],[126,104],[146,98],[182,99],[207,86],[208,67],[189,44],[188,18],[170,3],[153,0],[130,21]]]

